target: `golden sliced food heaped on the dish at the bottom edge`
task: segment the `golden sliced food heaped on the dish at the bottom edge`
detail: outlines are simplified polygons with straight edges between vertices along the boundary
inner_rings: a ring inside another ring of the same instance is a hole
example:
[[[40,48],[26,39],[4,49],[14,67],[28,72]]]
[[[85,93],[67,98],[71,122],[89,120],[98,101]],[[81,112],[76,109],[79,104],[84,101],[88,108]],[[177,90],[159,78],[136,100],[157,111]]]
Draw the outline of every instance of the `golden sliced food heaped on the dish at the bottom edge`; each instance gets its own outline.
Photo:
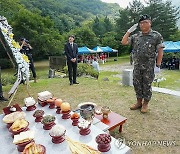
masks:
[[[43,145],[35,144],[31,142],[27,144],[22,152],[22,154],[45,154],[46,149]]]

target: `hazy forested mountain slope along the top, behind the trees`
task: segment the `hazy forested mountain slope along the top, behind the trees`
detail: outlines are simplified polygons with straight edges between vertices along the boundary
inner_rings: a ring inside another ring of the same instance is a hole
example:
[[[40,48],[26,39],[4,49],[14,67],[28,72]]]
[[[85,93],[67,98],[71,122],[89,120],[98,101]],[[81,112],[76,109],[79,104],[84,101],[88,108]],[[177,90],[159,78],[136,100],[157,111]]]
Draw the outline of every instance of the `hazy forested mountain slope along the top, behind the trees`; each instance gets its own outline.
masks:
[[[100,0],[20,0],[31,11],[50,16],[60,32],[69,31],[95,16],[114,18],[120,7]]]

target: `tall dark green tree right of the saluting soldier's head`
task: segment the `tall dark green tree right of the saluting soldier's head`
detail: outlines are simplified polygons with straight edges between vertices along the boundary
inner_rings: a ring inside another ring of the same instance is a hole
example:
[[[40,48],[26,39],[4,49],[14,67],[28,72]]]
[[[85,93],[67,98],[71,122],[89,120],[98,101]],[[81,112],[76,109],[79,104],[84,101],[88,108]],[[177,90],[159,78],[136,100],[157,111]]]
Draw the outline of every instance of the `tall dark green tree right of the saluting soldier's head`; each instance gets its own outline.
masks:
[[[178,30],[176,22],[179,8],[172,6],[170,1],[149,0],[142,14],[151,16],[153,29],[161,33],[164,40],[170,40],[170,36],[174,35]]]

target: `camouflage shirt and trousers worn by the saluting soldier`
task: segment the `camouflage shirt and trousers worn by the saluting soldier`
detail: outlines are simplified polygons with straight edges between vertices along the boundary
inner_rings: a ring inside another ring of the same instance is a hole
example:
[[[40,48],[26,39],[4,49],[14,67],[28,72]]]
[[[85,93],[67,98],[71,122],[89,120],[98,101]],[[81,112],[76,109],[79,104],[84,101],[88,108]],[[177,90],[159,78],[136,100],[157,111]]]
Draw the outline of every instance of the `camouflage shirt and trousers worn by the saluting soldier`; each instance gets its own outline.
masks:
[[[158,48],[163,47],[160,33],[151,30],[148,34],[139,32],[129,40],[133,47],[133,85],[137,98],[150,101],[152,96],[151,84],[154,80],[154,66]]]

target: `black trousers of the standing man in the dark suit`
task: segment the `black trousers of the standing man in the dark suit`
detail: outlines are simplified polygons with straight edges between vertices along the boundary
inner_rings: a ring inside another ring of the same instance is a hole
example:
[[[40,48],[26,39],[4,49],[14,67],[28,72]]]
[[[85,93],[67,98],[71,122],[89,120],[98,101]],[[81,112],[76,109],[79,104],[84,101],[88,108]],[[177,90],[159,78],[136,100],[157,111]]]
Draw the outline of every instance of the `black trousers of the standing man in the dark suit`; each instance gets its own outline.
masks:
[[[68,72],[69,72],[69,82],[76,82],[77,76],[77,62],[73,63],[72,61],[67,61]]]

